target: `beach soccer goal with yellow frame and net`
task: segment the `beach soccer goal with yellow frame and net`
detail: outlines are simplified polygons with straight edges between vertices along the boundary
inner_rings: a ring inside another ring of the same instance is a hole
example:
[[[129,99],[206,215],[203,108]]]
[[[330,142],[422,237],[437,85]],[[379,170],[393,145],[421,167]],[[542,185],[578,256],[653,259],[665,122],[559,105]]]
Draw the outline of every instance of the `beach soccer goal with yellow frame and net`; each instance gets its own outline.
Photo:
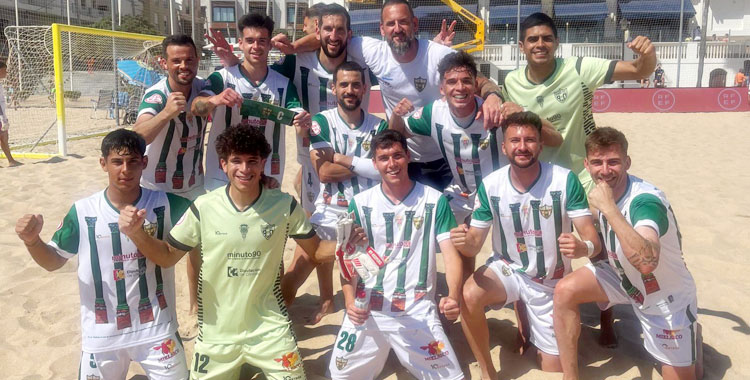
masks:
[[[10,145],[22,155],[64,155],[71,138],[134,123],[162,75],[160,36],[60,24],[9,26],[5,36]]]

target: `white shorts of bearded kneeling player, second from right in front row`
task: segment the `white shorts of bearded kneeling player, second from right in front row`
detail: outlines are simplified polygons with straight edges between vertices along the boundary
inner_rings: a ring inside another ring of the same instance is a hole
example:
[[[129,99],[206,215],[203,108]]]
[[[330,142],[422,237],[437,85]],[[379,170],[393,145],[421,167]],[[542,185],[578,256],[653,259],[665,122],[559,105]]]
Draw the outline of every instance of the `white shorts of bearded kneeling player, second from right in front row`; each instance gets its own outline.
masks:
[[[552,299],[555,289],[517,273],[502,260],[491,257],[485,265],[502,281],[507,296],[505,305],[518,300],[526,304],[531,326],[531,343],[546,354],[559,355],[552,324]]]

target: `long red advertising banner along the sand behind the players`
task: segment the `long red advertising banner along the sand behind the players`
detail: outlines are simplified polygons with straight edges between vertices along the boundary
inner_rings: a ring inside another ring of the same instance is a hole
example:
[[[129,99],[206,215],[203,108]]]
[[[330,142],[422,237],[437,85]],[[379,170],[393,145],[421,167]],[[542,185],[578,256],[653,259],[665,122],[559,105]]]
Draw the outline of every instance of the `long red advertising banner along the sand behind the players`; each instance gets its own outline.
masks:
[[[608,88],[594,93],[594,112],[748,112],[744,87]],[[383,113],[380,91],[370,93],[371,113]]]

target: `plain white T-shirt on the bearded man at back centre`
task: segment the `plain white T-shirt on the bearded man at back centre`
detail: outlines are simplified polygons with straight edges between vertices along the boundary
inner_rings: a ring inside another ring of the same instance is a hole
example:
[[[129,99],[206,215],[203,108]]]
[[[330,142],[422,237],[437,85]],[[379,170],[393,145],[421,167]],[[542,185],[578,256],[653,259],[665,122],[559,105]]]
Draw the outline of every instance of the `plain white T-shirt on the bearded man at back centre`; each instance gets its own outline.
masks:
[[[411,61],[401,63],[393,58],[388,43],[370,37],[354,37],[349,43],[347,53],[352,60],[367,66],[378,78],[380,94],[383,97],[385,114],[390,119],[393,108],[401,99],[412,102],[419,109],[427,103],[440,99],[440,73],[438,63],[455,50],[438,43],[417,39],[419,45],[417,56]],[[426,136],[414,136],[408,140],[411,159],[414,162],[439,160],[440,151],[435,142]]]

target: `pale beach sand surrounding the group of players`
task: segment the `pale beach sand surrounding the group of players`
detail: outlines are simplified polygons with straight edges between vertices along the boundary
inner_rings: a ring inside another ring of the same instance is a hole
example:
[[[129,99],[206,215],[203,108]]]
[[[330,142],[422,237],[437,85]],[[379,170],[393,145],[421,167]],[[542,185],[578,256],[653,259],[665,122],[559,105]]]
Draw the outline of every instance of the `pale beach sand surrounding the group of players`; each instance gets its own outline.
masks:
[[[741,379],[750,373],[742,360],[742,347],[750,342],[750,286],[743,280],[750,265],[750,187],[746,172],[750,162],[748,113],[712,114],[596,114],[598,125],[623,130],[630,140],[632,174],[663,189],[677,215],[683,235],[685,261],[698,287],[698,318],[703,325],[706,379]],[[288,131],[288,157],[295,157],[294,139]],[[0,160],[0,363],[7,379],[71,379],[80,357],[80,319],[76,259],[48,273],[31,259],[14,233],[16,220],[25,213],[42,213],[42,238],[49,239],[72,202],[106,185],[98,167],[100,138],[72,141],[64,159],[22,159],[25,165],[7,168]],[[283,189],[292,192],[297,172],[288,160]],[[285,262],[294,243],[287,245]],[[480,262],[489,254],[485,245]],[[580,266],[584,261],[575,263]],[[439,262],[439,268],[442,263]],[[177,269],[178,314],[187,315],[187,282],[184,260]],[[338,281],[335,281],[335,283]],[[743,285],[744,284],[744,285]],[[440,286],[439,289],[445,289]],[[315,326],[295,324],[309,378],[322,378],[343,318],[343,296],[336,287],[338,311]],[[311,276],[290,309],[301,321],[317,301],[317,283]],[[654,360],[642,348],[640,327],[629,306],[615,310],[617,349],[596,343],[598,311],[586,306],[580,342],[584,379],[659,379]],[[534,357],[512,352],[515,317],[512,310],[488,314],[492,356],[501,379],[556,379],[537,369]],[[467,378],[479,369],[458,323],[448,335],[459,354]],[[744,342],[744,343],[743,343]],[[188,360],[194,341],[186,343]],[[128,379],[143,379],[137,364]],[[743,375],[745,374],[745,375]],[[391,357],[378,378],[412,378]]]

